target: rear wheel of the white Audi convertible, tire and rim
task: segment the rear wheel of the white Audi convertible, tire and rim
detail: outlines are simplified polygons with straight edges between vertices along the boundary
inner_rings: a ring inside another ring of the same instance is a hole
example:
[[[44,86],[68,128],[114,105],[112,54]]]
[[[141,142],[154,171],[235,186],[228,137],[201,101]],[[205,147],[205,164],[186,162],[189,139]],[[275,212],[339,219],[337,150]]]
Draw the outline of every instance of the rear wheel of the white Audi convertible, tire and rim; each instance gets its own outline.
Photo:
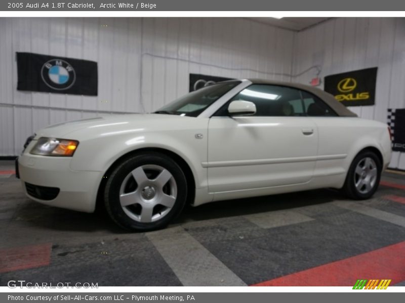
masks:
[[[370,198],[380,183],[381,169],[381,161],[372,151],[358,154],[350,165],[343,190],[353,199]]]

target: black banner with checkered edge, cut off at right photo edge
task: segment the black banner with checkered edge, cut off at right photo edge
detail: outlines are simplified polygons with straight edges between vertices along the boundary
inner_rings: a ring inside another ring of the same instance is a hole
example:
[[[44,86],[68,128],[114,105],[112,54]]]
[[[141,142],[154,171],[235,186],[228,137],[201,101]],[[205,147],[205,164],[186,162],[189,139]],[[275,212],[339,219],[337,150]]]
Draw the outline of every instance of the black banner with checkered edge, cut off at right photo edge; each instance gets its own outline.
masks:
[[[391,130],[392,150],[405,153],[405,109],[388,109],[387,124]]]

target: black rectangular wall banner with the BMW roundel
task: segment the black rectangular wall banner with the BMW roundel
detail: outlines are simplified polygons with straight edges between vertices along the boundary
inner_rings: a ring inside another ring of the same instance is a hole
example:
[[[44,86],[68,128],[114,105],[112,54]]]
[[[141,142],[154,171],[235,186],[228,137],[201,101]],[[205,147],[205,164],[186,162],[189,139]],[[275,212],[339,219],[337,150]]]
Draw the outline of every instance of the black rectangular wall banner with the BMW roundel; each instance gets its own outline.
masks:
[[[97,62],[17,53],[18,90],[97,95]]]

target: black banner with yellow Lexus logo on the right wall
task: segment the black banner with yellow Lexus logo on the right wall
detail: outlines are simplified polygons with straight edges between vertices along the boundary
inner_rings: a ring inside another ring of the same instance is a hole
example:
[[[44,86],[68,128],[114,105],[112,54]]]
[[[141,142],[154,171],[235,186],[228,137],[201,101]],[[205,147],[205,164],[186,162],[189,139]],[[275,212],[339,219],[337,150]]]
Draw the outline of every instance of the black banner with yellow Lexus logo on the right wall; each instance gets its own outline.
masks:
[[[345,106],[374,105],[377,67],[325,77],[325,91]]]

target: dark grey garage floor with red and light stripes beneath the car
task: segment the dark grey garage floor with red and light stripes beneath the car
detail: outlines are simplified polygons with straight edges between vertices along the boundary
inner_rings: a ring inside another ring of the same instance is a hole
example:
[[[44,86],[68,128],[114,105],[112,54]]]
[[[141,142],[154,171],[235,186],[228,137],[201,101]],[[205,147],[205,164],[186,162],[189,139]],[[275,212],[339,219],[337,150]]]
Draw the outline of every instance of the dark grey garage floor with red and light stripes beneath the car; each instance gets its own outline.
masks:
[[[167,229],[128,233],[102,213],[37,204],[0,162],[0,286],[9,280],[99,286],[405,286],[405,175],[372,199],[334,190],[187,208]]]

